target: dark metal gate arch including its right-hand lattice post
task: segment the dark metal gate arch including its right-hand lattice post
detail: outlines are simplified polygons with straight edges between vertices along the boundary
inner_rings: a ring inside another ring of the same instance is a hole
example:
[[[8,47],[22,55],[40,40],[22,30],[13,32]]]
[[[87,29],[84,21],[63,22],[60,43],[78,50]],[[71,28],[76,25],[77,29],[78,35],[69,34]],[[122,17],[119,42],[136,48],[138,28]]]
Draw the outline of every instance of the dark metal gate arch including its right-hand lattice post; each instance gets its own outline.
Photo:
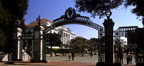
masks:
[[[104,28],[94,22],[92,22],[89,17],[86,16],[81,16],[80,14],[76,14],[76,11],[74,8],[68,8],[65,12],[64,15],[62,15],[60,18],[57,18],[55,20],[53,20],[53,24],[47,28],[45,28],[44,30],[44,35],[46,35],[48,33],[48,31],[58,27],[58,26],[62,26],[62,25],[67,25],[67,24],[80,24],[80,25],[85,25],[85,26],[89,26],[91,28],[94,28],[96,30],[98,30],[98,38],[101,39],[104,36]],[[45,37],[45,36],[44,36]],[[46,39],[46,37],[45,37]],[[101,47],[100,45],[102,45],[101,43],[99,43],[99,48]],[[99,49],[98,51],[98,55],[99,55],[99,62],[104,62],[104,52],[100,52],[103,51],[102,49]]]

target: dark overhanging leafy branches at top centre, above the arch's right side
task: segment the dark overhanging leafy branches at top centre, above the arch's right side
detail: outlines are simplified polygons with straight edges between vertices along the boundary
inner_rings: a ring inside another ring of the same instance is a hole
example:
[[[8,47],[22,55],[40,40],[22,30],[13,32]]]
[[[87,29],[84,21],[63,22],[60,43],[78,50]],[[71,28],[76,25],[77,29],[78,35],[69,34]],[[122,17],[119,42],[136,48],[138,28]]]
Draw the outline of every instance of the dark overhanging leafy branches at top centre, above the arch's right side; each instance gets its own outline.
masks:
[[[75,7],[80,12],[90,13],[93,17],[104,16],[105,11],[117,8],[123,0],[75,0]]]

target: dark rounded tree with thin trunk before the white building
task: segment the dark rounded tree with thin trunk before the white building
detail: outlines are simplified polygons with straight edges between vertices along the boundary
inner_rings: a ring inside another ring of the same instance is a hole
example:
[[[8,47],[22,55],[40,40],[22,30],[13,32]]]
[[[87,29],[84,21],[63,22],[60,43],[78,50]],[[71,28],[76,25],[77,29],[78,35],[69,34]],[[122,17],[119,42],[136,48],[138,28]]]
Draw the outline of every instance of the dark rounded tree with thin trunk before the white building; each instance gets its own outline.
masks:
[[[46,46],[50,46],[51,48],[51,56],[52,56],[52,47],[53,46],[59,46],[61,47],[61,36],[56,33],[48,33],[46,38]]]

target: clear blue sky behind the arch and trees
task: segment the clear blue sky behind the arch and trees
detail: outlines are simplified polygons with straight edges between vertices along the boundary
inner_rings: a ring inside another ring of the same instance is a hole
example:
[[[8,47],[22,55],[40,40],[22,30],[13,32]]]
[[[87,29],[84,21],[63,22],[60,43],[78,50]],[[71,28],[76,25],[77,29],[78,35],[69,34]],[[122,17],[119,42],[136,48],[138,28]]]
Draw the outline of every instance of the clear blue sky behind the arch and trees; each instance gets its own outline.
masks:
[[[65,13],[65,10],[69,7],[75,8],[75,0],[29,0],[29,7],[27,14],[25,15],[25,24],[29,24],[35,21],[38,15],[41,18],[46,18],[53,21]],[[117,9],[112,10],[113,14],[111,18],[115,22],[114,29],[116,30],[119,26],[138,26],[142,27],[141,21],[136,19],[136,15],[131,13],[133,7],[125,8],[120,6]],[[79,13],[79,12],[77,12]],[[82,16],[88,16],[90,19],[103,26],[104,18],[91,17],[88,13],[79,13]],[[69,27],[77,36],[83,36],[87,39],[97,37],[97,30],[77,24],[64,25]]]

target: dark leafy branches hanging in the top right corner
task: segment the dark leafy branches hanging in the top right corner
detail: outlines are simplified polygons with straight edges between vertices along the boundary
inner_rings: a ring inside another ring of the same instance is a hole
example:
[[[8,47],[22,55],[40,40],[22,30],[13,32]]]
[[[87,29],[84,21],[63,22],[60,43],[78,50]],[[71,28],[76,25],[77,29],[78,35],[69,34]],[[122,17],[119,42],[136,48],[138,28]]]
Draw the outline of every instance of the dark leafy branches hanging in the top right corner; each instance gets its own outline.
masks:
[[[126,0],[125,6],[135,6],[132,9],[132,13],[136,14],[138,17],[142,16],[142,21],[144,23],[144,0]]]

